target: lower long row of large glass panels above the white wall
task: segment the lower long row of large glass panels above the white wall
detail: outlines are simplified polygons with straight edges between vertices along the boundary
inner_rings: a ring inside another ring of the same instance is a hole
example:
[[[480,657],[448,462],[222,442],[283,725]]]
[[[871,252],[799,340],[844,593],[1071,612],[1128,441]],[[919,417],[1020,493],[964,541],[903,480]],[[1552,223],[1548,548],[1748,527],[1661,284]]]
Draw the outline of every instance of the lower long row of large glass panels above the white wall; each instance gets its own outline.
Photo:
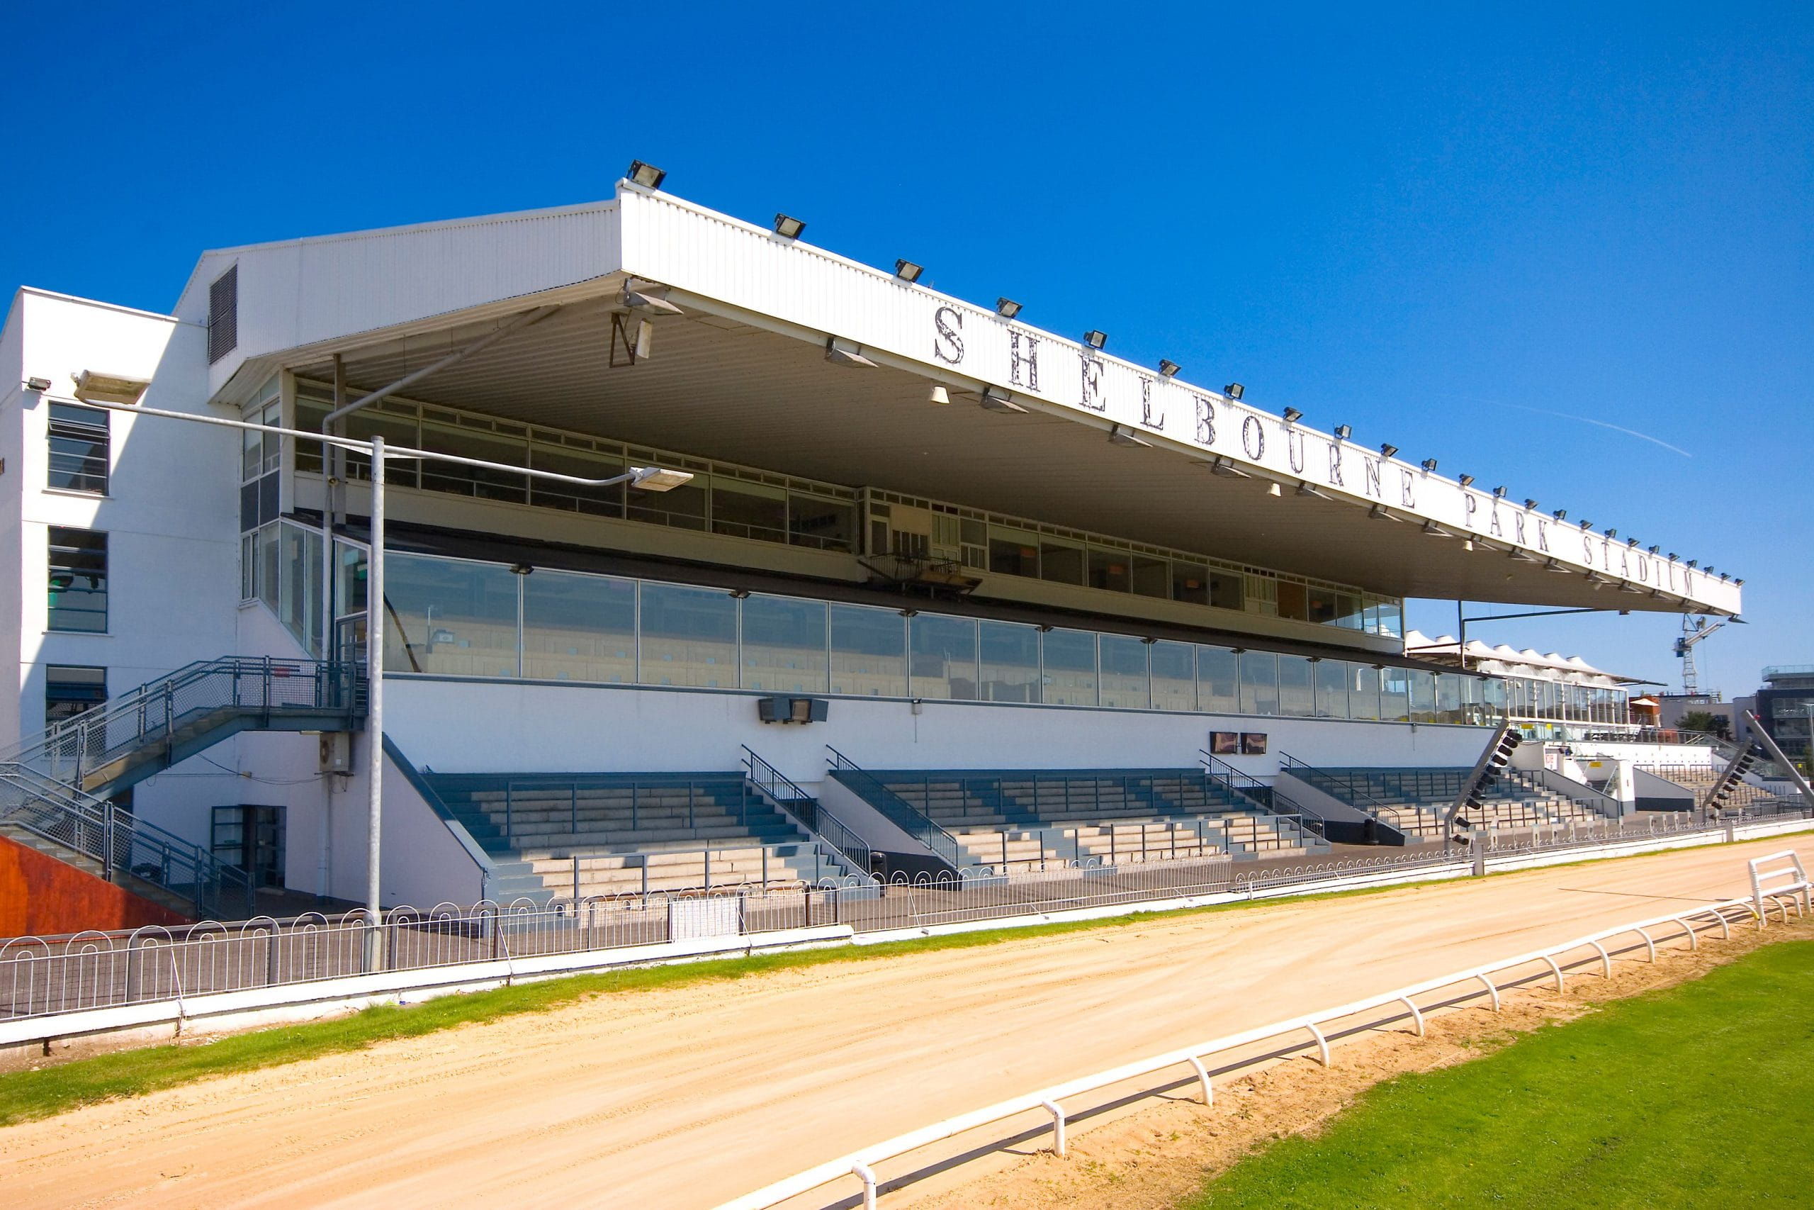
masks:
[[[390,555],[386,668],[602,684],[1480,722],[1500,682],[610,575]]]

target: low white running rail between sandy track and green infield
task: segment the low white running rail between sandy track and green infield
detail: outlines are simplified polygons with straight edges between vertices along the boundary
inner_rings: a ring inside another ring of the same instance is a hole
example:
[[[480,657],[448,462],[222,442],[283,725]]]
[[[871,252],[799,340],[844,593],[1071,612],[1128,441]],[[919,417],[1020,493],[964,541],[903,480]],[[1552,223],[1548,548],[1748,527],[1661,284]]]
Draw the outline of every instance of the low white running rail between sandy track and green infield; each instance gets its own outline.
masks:
[[[1712,903],[1709,907],[1696,907],[1685,912],[1653,916],[1649,920],[1640,920],[1636,923],[1618,925],[1614,929],[1604,929],[1600,932],[1573,942],[1565,942],[1562,945],[1551,945],[1546,949],[1531,951],[1527,954],[1518,954],[1517,958],[1506,958],[1480,967],[1471,967],[1457,974],[1442,976],[1437,980],[1426,980],[1422,983],[1413,983],[1409,987],[1400,987],[1379,996],[1370,996],[1366,1000],[1357,1000],[1353,1003],[1339,1005],[1335,1009],[1324,1009],[1321,1012],[1310,1012],[1304,1016],[1290,1018],[1286,1021],[1261,1025],[1259,1029],[1243,1030],[1239,1034],[1212,1038],[1208,1041],[1201,1041],[1192,1047],[1181,1047],[1177,1050],[1168,1050],[1165,1054],[1157,1054],[1148,1059],[1125,1063],[1121,1067],[1114,1067],[1110,1070],[1097,1072],[1094,1076],[1083,1076],[1081,1079],[1068,1079],[1065,1083],[1052,1085],[1050,1088],[1041,1088],[1038,1092],[1029,1092],[1025,1096],[1010,1098],[1007,1101],[998,1101],[996,1105],[970,1110],[969,1114],[947,1117],[945,1121],[934,1123],[931,1127],[922,1127],[920,1130],[911,1130],[907,1134],[894,1136],[892,1139],[887,1139],[883,1143],[863,1147],[847,1156],[840,1156],[838,1159],[831,1159],[818,1166],[807,1168],[805,1172],[795,1174],[791,1177],[758,1188],[753,1194],[733,1197],[731,1201],[722,1203],[717,1210],[766,1210],[767,1206],[773,1206],[789,1197],[796,1197],[800,1194],[818,1188],[820,1185],[825,1185],[829,1181],[845,1176],[854,1176],[863,1183],[863,1205],[873,1208],[876,1205],[876,1177],[874,1177],[876,1165],[920,1150],[922,1147],[929,1147],[932,1143],[954,1137],[958,1134],[976,1130],[978,1127],[987,1127],[1005,1117],[1014,1117],[1018,1114],[1025,1114],[1036,1108],[1043,1108],[1052,1116],[1054,1150],[1059,1156],[1063,1156],[1065,1110],[1059,1107],[1059,1101],[1065,1101],[1068,1098],[1085,1092],[1096,1092],[1099,1088],[1107,1088],[1110,1085],[1117,1085],[1126,1079],[1137,1079],[1141,1076],[1150,1076],[1168,1067],[1181,1067],[1188,1063],[1195,1070],[1197,1079],[1203,1085],[1204,1101],[1208,1101],[1214,1096],[1214,1088],[1210,1083],[1210,1074],[1203,1067],[1204,1056],[1219,1054],[1223,1050],[1232,1050],[1235,1047],[1244,1047],[1255,1041],[1266,1041],[1272,1038],[1279,1038],[1282,1034],[1308,1032],[1310,1038],[1315,1041],[1319,1058],[1322,1059],[1322,1067],[1330,1067],[1333,1059],[1330,1054],[1328,1034],[1324,1034],[1322,1030],[1322,1025],[1328,1021],[1339,1021],[1342,1018],[1357,1016],[1360,1012],[1370,1012],[1388,1005],[1391,1005],[1393,1009],[1404,1005],[1404,1012],[1393,1012],[1393,1016],[1388,1020],[1395,1021],[1408,1016],[1415,1021],[1417,1034],[1422,1036],[1424,1020],[1422,1020],[1422,1010],[1417,1007],[1415,1000],[1417,996],[1433,990],[1442,990],[1446,987],[1455,987],[1458,983],[1478,981],[1482,989],[1475,992],[1475,996],[1491,996],[1493,1009],[1498,1010],[1500,1009],[1498,983],[1495,983],[1491,976],[1502,971],[1515,971],[1518,967],[1527,967],[1540,961],[1546,963],[1547,974],[1555,978],[1556,990],[1562,990],[1565,974],[1564,974],[1564,963],[1556,961],[1558,956],[1571,954],[1573,951],[1578,949],[1593,947],[1595,958],[1602,963],[1602,971],[1611,976],[1613,956],[1602,942],[1627,932],[1636,932],[1640,938],[1643,938],[1643,945],[1649,951],[1651,961],[1654,961],[1656,940],[1651,936],[1651,929],[1674,923],[1685,931],[1685,936],[1691,940],[1691,945],[1698,947],[1700,934],[1696,925],[1691,922],[1700,916],[1714,916],[1720,927],[1725,931],[1725,934],[1731,936],[1731,920],[1727,920],[1725,912],[1734,909],[1743,909],[1747,914],[1756,914],[1756,909],[1752,909],[1751,900],[1725,900],[1721,903]],[[1711,929],[1712,923],[1709,923],[1707,927]],[[1591,961],[1595,958],[1580,958],[1565,965],[1578,965],[1580,961]],[[1542,978],[1542,972],[1536,978]],[[1518,983],[1524,980],[1511,980],[1511,981]]]

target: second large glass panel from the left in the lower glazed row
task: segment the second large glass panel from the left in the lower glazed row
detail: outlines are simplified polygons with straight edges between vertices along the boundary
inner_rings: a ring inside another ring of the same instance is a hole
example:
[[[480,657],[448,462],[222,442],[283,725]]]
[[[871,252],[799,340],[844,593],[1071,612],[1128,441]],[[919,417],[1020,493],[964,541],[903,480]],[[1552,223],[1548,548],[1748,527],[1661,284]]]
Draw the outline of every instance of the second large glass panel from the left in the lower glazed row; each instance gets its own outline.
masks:
[[[633,684],[637,582],[535,571],[522,582],[522,675]]]

